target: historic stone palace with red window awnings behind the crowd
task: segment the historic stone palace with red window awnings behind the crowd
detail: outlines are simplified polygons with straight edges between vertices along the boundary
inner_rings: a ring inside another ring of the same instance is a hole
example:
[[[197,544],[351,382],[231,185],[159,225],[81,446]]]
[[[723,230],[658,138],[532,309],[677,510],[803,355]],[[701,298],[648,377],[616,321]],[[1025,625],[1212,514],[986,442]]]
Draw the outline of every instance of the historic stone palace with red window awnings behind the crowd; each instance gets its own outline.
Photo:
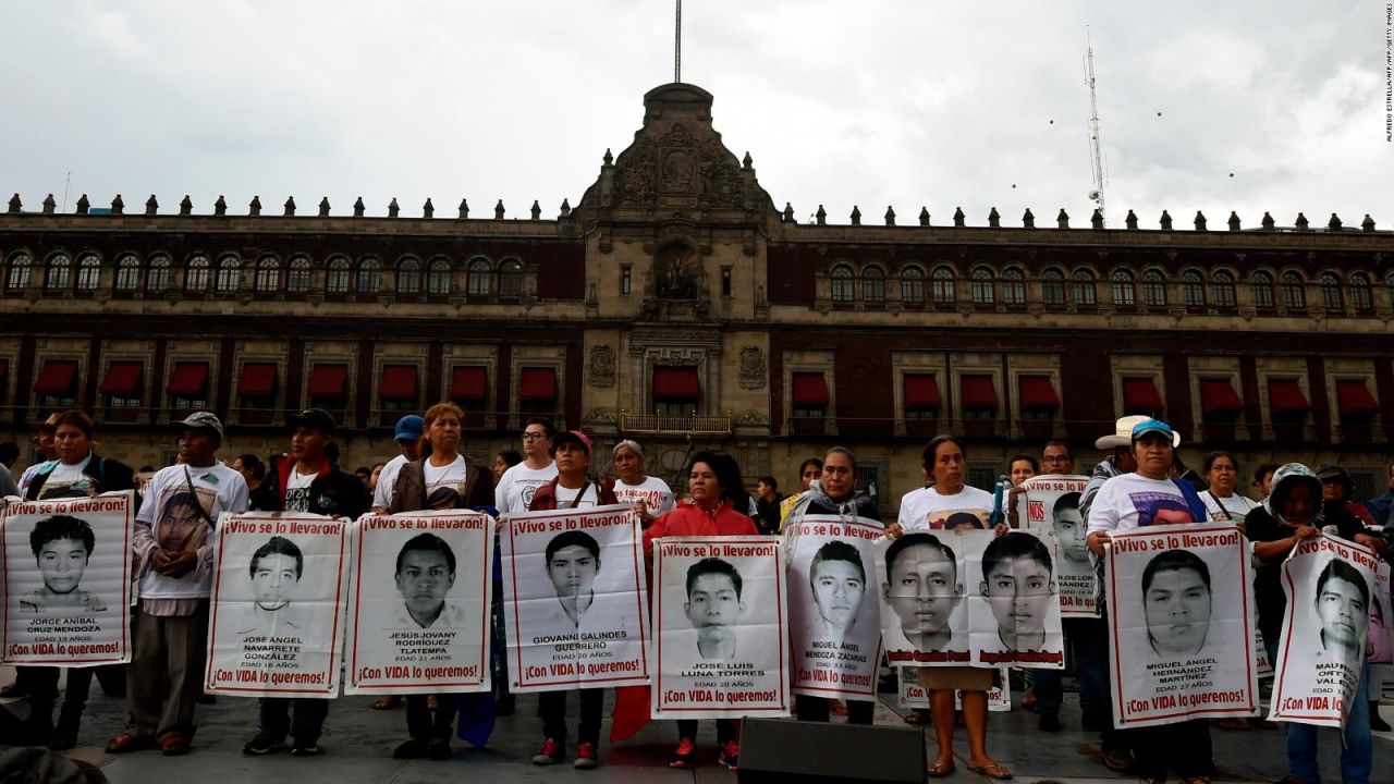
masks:
[[[357,466],[393,453],[401,412],[453,399],[475,455],[546,412],[601,446],[644,441],[669,480],[690,446],[719,446],[751,481],[789,483],[841,442],[894,506],[937,431],[967,437],[986,485],[1051,437],[1087,465],[1115,417],[1149,412],[1245,469],[1341,462],[1373,490],[1394,432],[1394,234],[1369,218],[797,223],[711,105],[651,91],[633,144],[555,219],[535,202],[527,219],[395,201],[386,218],[361,201],[195,215],[153,197],[59,215],[17,195],[0,215],[6,430],[24,441],[78,406],[106,453],[162,465],[181,412],[223,416],[227,455],[266,453],[286,448],[283,412],[316,405]]]

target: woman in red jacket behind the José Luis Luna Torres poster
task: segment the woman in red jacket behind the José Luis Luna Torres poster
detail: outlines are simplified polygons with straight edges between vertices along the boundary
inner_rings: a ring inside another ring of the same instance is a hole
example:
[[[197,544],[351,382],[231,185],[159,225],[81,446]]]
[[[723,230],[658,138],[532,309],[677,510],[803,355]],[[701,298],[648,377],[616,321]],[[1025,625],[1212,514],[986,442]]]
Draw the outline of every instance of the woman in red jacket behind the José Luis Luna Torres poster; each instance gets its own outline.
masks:
[[[744,502],[746,487],[740,480],[740,466],[730,455],[698,452],[687,472],[689,501],[654,520],[644,532],[644,558],[652,565],[654,540],[665,536],[760,536],[756,522],[736,511],[737,499]],[[652,569],[650,569],[652,573]],[[740,723],[735,718],[717,720],[719,760],[736,770],[740,757]],[[696,759],[697,720],[677,723],[677,749],[669,767],[690,769]]]

